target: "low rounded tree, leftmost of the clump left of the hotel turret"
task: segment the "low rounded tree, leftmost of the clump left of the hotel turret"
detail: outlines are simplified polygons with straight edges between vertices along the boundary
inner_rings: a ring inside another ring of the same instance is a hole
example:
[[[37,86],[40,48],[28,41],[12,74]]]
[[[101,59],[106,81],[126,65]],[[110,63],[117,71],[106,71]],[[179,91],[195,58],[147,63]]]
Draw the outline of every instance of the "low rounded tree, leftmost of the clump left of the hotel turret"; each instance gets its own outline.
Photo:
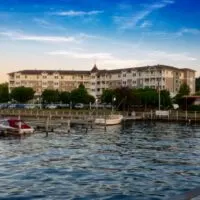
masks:
[[[58,90],[46,89],[42,92],[43,103],[58,103],[60,101],[60,94]]]

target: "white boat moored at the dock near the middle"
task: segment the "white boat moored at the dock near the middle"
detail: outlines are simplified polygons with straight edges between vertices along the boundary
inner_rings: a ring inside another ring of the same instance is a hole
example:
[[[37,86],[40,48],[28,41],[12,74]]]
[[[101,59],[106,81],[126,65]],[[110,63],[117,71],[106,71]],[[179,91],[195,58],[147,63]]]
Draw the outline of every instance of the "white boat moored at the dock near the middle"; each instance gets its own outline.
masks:
[[[123,115],[108,115],[105,118],[96,118],[94,123],[99,125],[116,125],[120,124],[123,120]]]

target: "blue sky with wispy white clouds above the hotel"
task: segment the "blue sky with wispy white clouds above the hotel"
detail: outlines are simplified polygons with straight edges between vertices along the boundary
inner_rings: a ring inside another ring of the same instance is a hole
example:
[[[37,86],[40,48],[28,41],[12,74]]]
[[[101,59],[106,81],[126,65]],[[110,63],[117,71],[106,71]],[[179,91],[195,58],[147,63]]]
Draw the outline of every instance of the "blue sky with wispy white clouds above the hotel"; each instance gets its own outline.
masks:
[[[24,69],[164,64],[200,75],[199,0],[0,0],[0,82]]]

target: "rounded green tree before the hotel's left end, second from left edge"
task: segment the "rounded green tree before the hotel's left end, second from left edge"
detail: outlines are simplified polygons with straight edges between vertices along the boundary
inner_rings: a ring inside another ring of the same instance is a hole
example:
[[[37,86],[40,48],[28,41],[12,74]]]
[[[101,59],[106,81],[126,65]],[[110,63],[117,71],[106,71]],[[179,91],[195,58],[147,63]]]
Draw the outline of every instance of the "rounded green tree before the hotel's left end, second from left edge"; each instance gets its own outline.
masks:
[[[30,87],[16,87],[12,89],[10,97],[19,103],[26,103],[33,99],[35,91]]]

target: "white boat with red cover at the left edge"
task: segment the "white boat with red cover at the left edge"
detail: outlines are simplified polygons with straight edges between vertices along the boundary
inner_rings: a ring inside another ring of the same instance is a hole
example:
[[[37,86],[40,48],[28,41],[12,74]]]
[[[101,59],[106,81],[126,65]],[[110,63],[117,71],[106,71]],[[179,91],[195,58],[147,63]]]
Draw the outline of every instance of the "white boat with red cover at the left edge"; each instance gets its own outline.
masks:
[[[0,119],[0,133],[6,135],[31,134],[34,129],[21,119]]]

